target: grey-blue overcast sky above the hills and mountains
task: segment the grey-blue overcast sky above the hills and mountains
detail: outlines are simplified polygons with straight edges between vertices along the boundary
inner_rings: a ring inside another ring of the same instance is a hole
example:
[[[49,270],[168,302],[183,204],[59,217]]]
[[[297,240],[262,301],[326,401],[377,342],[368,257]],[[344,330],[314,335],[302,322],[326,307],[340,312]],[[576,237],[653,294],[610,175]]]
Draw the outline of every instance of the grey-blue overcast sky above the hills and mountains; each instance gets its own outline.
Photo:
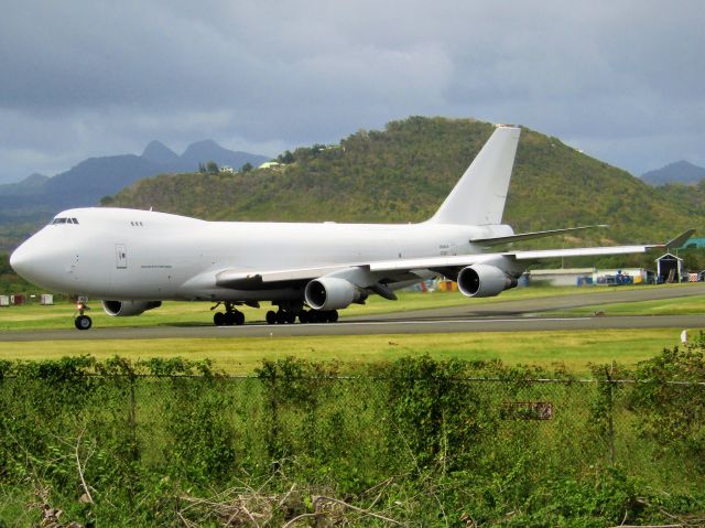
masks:
[[[3,0],[0,183],[202,139],[276,155],[411,115],[705,166],[705,1]]]

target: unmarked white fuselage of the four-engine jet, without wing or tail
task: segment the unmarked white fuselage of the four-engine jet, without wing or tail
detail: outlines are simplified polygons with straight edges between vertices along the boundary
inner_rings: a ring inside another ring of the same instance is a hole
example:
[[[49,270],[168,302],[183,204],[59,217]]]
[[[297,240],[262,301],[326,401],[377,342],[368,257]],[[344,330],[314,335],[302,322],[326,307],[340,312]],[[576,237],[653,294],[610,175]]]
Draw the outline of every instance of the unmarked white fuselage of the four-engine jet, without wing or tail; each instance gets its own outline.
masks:
[[[291,288],[238,290],[219,287],[215,278],[223,270],[254,273],[467,255],[480,252],[470,238],[512,233],[509,226],[432,223],[206,222],[120,208],[69,209],[57,218],[67,222],[40,230],[15,251],[14,262],[31,261],[24,274],[54,291],[120,300],[294,299],[301,292]]]

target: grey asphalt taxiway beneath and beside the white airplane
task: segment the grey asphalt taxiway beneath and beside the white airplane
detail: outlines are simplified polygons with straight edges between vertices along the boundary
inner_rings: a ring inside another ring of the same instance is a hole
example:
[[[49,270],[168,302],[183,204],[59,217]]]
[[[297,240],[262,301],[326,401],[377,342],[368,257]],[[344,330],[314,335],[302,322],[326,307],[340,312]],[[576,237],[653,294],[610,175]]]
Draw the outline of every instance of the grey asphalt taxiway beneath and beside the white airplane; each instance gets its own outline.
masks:
[[[610,316],[600,314],[600,306],[612,303],[677,299],[705,294],[705,284],[683,288],[644,287],[562,295],[542,299],[505,301],[478,305],[341,319],[338,323],[242,326],[177,326],[75,328],[0,332],[0,342],[41,342],[74,340],[159,340],[159,338],[219,338],[312,335],[375,335],[375,334],[433,334],[453,332],[527,332],[576,331],[599,328],[705,328],[705,314],[701,315],[642,315]],[[555,317],[542,315],[571,308],[595,306],[597,315]]]

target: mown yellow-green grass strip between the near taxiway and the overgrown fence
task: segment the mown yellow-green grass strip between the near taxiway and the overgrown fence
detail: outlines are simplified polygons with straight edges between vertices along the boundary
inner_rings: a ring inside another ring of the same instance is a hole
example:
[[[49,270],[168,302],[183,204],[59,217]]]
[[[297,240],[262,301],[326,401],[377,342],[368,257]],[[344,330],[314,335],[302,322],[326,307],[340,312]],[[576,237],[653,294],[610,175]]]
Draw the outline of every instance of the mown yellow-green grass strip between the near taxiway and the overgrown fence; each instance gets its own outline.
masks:
[[[436,359],[501,359],[509,365],[540,365],[587,373],[590,364],[633,365],[679,343],[674,330],[586,332],[484,332],[457,334],[390,334],[366,336],[235,337],[58,341],[0,343],[0,359],[56,359],[91,354],[132,360],[181,356],[210,358],[228,374],[251,374],[263,358],[296,356],[310,360],[340,360],[346,369],[366,363],[429,353]]]

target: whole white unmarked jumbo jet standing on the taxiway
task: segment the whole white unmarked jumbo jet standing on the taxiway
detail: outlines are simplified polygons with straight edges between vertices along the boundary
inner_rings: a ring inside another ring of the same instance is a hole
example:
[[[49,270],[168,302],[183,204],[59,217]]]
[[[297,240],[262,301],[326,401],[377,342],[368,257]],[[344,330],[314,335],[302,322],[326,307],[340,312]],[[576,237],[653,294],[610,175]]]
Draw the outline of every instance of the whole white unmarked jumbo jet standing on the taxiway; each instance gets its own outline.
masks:
[[[517,285],[536,260],[644,252],[662,245],[492,251],[497,246],[585,229],[514,234],[501,224],[520,129],[498,126],[438,211],[426,222],[284,224],[205,222],[151,211],[76,208],[58,214],[10,257],[31,282],[102,299],[109,315],[139,315],[163,300],[224,306],[216,325],[242,324],[238,305],[279,306],[267,322],[335,322],[372,293],[443,274],[466,297]],[[214,309],[216,308],[214,306]],[[213,309],[212,309],[213,310]],[[76,327],[91,320],[79,305]]]

